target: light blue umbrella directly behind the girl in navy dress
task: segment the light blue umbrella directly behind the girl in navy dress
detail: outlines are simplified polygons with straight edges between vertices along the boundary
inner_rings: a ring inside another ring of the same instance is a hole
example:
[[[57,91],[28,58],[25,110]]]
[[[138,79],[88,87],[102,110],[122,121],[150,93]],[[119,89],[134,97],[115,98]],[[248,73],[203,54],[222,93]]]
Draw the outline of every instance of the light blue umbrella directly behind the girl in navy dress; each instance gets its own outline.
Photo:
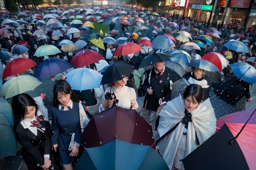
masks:
[[[97,71],[85,67],[74,69],[65,75],[72,89],[80,91],[99,88],[102,76]]]

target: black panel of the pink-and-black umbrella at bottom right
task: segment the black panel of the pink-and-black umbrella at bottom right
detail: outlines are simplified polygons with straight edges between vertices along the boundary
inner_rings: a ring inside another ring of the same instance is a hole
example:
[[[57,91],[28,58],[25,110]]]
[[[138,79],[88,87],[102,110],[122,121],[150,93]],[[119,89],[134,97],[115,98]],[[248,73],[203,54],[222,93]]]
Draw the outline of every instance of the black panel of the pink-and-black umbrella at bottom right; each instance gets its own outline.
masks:
[[[185,169],[249,169],[244,155],[224,124],[218,132],[182,160]]]

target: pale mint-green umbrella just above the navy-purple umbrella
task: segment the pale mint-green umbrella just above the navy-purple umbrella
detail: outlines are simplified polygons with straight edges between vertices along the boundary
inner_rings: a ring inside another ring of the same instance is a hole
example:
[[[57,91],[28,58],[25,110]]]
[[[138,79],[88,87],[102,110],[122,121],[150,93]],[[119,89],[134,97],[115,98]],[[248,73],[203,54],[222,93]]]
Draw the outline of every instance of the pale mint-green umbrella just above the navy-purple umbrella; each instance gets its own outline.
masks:
[[[57,47],[55,47],[54,45],[45,44],[37,48],[34,56],[50,56],[55,55],[57,53],[61,53],[61,51]]]

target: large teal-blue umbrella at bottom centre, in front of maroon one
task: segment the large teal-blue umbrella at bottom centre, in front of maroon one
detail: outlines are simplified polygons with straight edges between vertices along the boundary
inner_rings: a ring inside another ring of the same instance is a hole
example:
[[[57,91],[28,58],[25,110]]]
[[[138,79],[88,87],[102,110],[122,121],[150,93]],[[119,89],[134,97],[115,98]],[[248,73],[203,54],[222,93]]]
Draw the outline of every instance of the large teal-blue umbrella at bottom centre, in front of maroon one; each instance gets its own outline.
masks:
[[[90,169],[161,169],[167,170],[164,159],[150,146],[137,145],[115,138],[105,145],[86,148],[74,170]]]

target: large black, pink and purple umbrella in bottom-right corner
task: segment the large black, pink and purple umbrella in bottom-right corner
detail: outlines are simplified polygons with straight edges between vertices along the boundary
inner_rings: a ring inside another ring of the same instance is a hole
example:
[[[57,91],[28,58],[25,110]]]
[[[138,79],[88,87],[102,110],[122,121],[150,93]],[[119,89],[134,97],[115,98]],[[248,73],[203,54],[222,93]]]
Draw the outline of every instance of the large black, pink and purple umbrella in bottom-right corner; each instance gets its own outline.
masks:
[[[255,108],[218,119],[219,130],[182,160],[185,169],[254,169],[254,113]]]

